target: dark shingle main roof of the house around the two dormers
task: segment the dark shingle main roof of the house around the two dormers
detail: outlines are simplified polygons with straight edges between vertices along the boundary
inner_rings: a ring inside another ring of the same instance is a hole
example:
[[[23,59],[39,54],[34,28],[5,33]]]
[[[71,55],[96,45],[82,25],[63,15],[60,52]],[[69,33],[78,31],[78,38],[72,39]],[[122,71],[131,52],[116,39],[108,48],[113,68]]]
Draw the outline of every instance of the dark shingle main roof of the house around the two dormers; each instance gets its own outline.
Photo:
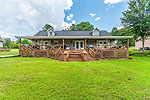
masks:
[[[54,31],[55,36],[92,36],[93,31]],[[47,31],[39,31],[34,36],[48,36]],[[112,36],[107,31],[99,31],[99,36]]]

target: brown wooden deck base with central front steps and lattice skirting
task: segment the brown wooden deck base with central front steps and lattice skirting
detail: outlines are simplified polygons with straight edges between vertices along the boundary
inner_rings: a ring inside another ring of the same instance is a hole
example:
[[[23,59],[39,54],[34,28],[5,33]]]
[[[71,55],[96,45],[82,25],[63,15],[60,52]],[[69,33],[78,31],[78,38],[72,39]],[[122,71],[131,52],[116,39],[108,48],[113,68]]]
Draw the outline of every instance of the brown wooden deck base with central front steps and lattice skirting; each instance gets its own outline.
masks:
[[[124,50],[101,50],[101,49],[81,49],[81,50],[63,50],[61,47],[57,49],[47,50],[19,50],[22,57],[54,57],[55,60],[61,61],[94,61],[97,58],[128,58],[128,49]]]

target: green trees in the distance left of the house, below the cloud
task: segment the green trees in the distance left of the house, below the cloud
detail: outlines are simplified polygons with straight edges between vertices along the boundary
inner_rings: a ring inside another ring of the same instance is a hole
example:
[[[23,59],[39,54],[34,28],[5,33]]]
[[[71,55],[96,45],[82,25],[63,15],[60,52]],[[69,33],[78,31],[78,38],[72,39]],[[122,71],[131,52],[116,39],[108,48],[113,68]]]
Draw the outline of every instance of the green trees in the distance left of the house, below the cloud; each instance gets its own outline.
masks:
[[[14,48],[14,49],[18,49],[19,48],[19,40],[16,41],[12,41],[10,38],[4,38],[4,47],[5,48]],[[28,44],[31,45],[31,41],[24,39],[21,40],[21,44]]]

